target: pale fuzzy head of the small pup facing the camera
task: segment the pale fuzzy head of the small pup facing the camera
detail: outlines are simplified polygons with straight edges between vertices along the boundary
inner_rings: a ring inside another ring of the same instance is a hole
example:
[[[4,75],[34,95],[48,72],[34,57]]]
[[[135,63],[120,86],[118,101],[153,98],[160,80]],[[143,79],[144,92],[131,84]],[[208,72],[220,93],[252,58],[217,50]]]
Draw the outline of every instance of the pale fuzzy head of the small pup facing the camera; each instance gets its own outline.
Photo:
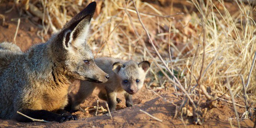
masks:
[[[144,79],[150,68],[150,63],[148,61],[142,61],[140,63],[127,61],[124,64],[115,62],[112,67],[113,72],[115,72],[121,80],[122,88],[133,95],[143,86]]]

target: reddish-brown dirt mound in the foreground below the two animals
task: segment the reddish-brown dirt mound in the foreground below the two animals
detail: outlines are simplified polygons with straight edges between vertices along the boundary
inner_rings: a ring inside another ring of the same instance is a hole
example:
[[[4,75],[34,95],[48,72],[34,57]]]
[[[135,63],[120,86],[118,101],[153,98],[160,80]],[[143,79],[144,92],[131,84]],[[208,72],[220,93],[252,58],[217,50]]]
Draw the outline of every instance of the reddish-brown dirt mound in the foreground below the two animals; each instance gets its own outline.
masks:
[[[85,101],[82,108],[85,106],[95,106],[97,98],[96,89],[93,94]],[[122,95],[118,95],[122,102],[118,104],[117,111],[111,112],[112,118],[107,114],[100,114],[101,116],[94,116],[96,110],[90,111],[89,113],[78,111],[76,114],[80,117],[79,120],[69,121],[64,123],[58,122],[33,122],[33,123],[20,123],[13,120],[0,120],[0,127],[104,127],[104,128],[115,128],[115,127],[184,127],[185,125],[189,128],[202,127],[202,128],[220,128],[230,127],[230,123],[227,118],[235,117],[234,109],[232,105],[223,101],[218,103],[218,108],[210,109],[206,116],[203,125],[193,125],[192,117],[177,116],[174,118],[176,106],[166,102],[166,100],[173,102],[176,105],[180,105],[180,98],[176,98],[172,91],[159,90],[157,91],[165,100],[153,94],[150,90],[143,87],[143,89],[135,94],[133,97],[134,104],[131,108],[126,108],[124,98]],[[104,101],[99,101],[99,106],[105,107]],[[140,112],[144,110],[154,117],[157,117],[163,122],[152,119],[148,115]],[[237,108],[239,115],[244,111],[244,108]],[[183,121],[182,121],[183,120]],[[236,120],[232,120],[232,125],[237,126]],[[243,120],[240,122],[242,127],[248,128],[253,127],[254,123],[251,120]]]

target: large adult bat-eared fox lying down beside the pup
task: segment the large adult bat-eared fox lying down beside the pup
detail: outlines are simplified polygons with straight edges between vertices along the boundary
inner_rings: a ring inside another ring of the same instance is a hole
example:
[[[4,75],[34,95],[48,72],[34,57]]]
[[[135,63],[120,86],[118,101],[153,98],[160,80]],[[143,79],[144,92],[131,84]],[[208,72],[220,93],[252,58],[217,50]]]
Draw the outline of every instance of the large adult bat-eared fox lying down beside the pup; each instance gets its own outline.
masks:
[[[106,82],[108,74],[96,66],[86,43],[96,2],[90,3],[42,44],[21,52],[15,44],[0,44],[0,118],[63,122],[75,119],[63,111],[74,80]]]

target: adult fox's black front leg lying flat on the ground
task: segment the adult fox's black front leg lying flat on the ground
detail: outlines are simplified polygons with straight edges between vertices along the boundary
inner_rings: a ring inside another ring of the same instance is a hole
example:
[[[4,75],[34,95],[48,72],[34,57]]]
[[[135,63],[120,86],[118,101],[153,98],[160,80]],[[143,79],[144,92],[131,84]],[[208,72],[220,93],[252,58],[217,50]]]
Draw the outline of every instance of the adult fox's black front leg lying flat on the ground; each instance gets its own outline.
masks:
[[[57,121],[57,122],[65,122],[71,120],[71,116],[69,115],[60,115],[54,112],[46,111],[46,110],[32,110],[32,109],[23,109],[20,110],[22,114],[25,114],[34,119],[43,119],[46,121]],[[33,122],[32,120],[24,117],[20,114],[16,114],[14,117],[15,120],[19,122]]]

